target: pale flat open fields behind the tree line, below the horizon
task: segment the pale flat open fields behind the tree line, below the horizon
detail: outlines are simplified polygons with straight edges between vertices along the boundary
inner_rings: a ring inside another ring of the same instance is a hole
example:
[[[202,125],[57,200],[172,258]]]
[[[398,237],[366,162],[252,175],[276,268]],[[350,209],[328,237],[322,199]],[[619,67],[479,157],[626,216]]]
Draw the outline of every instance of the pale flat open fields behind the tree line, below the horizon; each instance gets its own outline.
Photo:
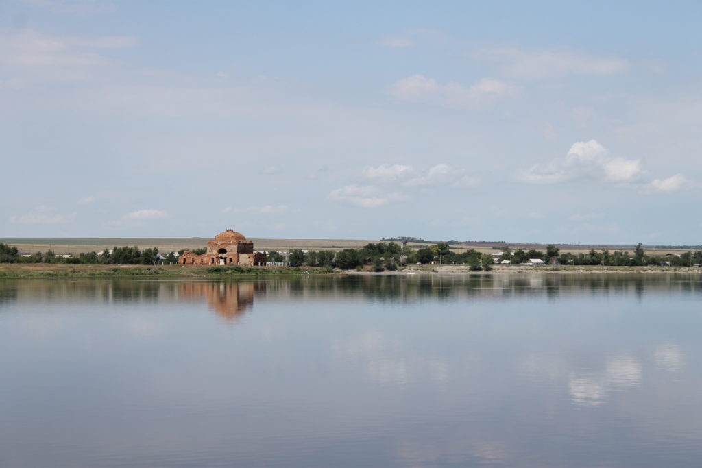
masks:
[[[38,251],[46,252],[53,250],[56,254],[72,253],[77,255],[81,252],[102,252],[106,248],[114,246],[138,246],[141,249],[157,247],[161,252],[173,252],[181,249],[202,248],[207,245],[210,239],[204,237],[115,237],[103,239],[0,239],[0,242],[15,246],[22,254],[31,254]],[[288,251],[293,248],[303,250],[340,250],[342,248],[362,248],[369,242],[380,242],[369,239],[251,239],[256,250],[283,250]],[[421,248],[430,246],[432,243],[409,242],[407,246]],[[503,242],[464,242],[451,246],[451,250],[461,252],[470,248],[475,248],[479,252],[494,253],[501,250],[505,245],[512,250],[522,248],[524,250],[535,249],[545,250],[545,244],[539,243],[503,243]],[[623,250],[633,253],[633,246],[574,246],[569,244],[556,245],[562,253],[589,252],[592,249],[602,250],[608,248],[610,251]],[[644,246],[645,248],[645,246]],[[666,253],[682,253],[687,249],[681,248],[646,248],[649,255],[665,255]]]

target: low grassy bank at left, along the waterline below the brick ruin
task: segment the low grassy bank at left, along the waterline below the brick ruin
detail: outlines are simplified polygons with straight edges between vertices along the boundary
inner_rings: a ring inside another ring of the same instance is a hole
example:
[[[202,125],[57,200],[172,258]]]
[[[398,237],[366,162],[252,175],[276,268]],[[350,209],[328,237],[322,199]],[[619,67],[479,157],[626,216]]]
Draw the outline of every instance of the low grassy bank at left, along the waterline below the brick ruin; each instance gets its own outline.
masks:
[[[265,276],[282,274],[331,274],[331,268],[319,267],[207,267],[201,265],[63,265],[46,263],[0,265],[0,278],[51,278],[101,276]]]

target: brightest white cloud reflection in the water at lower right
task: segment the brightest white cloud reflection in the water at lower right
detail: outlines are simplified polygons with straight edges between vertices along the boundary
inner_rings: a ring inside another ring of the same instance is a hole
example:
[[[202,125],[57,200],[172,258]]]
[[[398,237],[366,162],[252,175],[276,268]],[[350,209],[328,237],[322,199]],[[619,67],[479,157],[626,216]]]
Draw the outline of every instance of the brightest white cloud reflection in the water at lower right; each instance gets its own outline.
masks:
[[[571,401],[578,406],[598,406],[614,389],[630,389],[641,384],[641,364],[629,354],[607,359],[604,373],[571,373],[568,381]]]

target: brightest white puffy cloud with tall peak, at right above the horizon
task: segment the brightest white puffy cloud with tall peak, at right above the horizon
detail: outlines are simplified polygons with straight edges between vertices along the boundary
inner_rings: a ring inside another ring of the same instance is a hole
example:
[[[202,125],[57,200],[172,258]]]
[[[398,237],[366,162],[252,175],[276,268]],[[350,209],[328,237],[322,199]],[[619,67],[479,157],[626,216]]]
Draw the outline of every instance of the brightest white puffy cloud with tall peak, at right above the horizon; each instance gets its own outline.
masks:
[[[566,156],[547,165],[524,171],[520,179],[534,184],[553,184],[572,180],[597,182],[635,182],[643,171],[638,159],[613,158],[607,148],[595,140],[576,142]]]

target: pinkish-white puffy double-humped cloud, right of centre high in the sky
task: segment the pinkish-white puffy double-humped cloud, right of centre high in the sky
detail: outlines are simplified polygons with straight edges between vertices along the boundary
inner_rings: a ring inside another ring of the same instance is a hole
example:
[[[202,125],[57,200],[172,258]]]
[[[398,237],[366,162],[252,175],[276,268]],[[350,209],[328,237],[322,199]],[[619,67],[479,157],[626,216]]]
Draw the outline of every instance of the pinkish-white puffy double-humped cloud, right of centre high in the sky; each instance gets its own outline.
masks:
[[[491,78],[463,86],[455,81],[440,84],[435,79],[416,74],[390,86],[390,95],[398,100],[459,108],[475,107],[514,93],[514,86]]]

